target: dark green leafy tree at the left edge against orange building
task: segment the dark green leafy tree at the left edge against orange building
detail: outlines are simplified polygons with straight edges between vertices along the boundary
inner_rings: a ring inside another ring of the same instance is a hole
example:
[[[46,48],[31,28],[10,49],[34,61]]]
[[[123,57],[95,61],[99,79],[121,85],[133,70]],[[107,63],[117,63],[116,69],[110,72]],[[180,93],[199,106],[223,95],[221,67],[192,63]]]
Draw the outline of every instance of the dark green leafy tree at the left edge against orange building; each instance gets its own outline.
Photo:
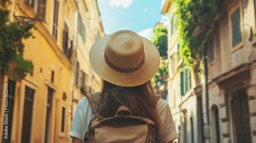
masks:
[[[14,79],[20,78],[33,68],[32,62],[23,58],[25,45],[22,40],[32,36],[30,30],[34,25],[20,19],[11,21],[10,11],[5,8],[7,0],[0,0],[0,3],[0,70]],[[15,66],[14,70],[10,69],[10,64]]]

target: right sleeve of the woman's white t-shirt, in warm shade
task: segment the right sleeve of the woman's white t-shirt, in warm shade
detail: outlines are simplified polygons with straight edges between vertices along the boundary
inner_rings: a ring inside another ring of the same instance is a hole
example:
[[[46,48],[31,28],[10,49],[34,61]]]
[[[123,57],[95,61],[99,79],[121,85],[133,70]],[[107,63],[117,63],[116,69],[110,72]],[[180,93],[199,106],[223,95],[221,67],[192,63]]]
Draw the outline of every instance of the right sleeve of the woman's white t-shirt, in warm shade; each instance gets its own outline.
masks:
[[[172,112],[170,112],[169,105],[164,102],[164,105],[160,109],[160,117],[162,120],[162,137],[164,142],[172,141],[179,137],[175,129]]]

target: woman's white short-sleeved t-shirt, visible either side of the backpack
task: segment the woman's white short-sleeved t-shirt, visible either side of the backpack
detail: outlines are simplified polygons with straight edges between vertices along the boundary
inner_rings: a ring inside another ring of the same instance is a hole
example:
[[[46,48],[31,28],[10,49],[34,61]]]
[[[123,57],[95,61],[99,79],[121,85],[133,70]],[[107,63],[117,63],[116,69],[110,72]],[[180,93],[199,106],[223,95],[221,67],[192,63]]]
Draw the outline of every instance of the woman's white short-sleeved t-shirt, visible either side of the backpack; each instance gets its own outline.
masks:
[[[163,123],[162,135],[164,142],[169,142],[178,138],[175,129],[173,115],[170,112],[169,105],[164,100],[158,100],[158,110],[161,121]],[[69,133],[71,137],[76,137],[83,140],[84,134],[88,129],[91,119],[94,117],[92,108],[87,97],[82,98],[76,107],[76,112],[73,120],[72,131]]]

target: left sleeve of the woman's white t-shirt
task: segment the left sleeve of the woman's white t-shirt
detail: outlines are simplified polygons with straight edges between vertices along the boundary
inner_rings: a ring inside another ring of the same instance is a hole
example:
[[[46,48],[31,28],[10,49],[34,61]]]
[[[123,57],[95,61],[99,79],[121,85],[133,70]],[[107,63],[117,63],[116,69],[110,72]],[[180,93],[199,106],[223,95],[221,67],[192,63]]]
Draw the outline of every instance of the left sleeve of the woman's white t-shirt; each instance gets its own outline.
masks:
[[[81,105],[80,101],[77,104],[75,115],[74,115],[74,120],[73,120],[73,125],[72,125],[72,130],[69,133],[69,135],[73,138],[76,137],[78,139],[82,140],[82,111],[81,111]]]

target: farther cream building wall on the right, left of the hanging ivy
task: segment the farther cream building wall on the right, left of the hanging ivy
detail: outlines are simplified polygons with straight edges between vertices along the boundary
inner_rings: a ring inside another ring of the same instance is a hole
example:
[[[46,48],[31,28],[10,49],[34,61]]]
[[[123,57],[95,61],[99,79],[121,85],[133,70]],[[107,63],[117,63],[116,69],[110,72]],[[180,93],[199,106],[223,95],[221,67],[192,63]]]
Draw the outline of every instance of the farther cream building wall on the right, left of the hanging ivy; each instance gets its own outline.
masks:
[[[169,16],[168,25],[168,61],[169,61],[169,79],[168,79],[168,103],[173,114],[176,130],[179,138],[174,142],[199,142],[198,122],[197,122],[197,96],[194,92],[196,87],[194,74],[190,73],[189,90],[181,95],[181,66],[183,62],[179,59],[178,51],[178,33],[175,28],[174,9],[170,1],[164,1],[162,13]]]

